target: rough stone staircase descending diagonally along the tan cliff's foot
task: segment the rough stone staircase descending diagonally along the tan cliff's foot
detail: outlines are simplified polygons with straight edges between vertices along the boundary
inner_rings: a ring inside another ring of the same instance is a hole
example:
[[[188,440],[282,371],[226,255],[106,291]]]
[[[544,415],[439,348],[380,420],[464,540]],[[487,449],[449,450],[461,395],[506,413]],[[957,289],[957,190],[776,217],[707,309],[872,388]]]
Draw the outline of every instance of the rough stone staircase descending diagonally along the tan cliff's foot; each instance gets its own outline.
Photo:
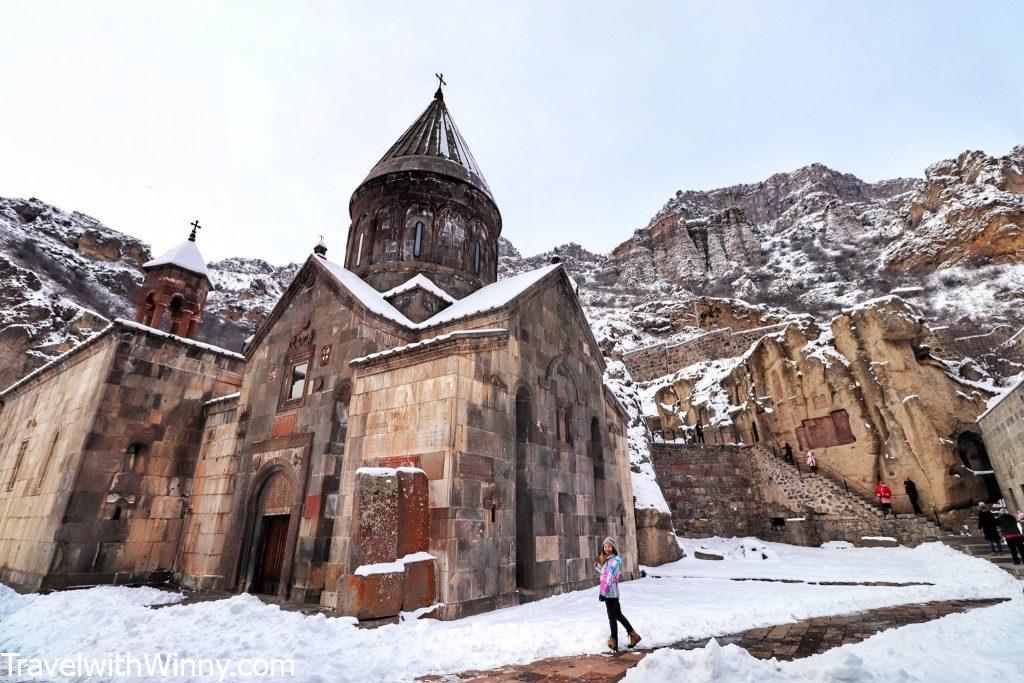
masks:
[[[845,526],[859,529],[863,537],[891,537],[908,545],[940,541],[945,536],[942,528],[926,515],[897,514],[887,517],[873,500],[848,489],[822,471],[816,475],[802,472],[795,464],[787,463],[764,445],[754,445],[748,451],[757,461],[762,477],[781,489],[785,500],[800,510],[810,510],[825,518],[841,518]]]

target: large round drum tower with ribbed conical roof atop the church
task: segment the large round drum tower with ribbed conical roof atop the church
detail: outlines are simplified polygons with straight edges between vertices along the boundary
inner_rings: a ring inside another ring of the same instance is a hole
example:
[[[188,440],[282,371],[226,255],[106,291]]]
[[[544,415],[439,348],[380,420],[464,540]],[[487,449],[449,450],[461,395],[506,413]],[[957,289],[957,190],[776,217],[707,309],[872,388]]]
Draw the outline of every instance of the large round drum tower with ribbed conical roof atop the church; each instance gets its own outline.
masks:
[[[459,299],[498,280],[502,216],[440,85],[348,210],[345,267],[379,292],[422,274]]]

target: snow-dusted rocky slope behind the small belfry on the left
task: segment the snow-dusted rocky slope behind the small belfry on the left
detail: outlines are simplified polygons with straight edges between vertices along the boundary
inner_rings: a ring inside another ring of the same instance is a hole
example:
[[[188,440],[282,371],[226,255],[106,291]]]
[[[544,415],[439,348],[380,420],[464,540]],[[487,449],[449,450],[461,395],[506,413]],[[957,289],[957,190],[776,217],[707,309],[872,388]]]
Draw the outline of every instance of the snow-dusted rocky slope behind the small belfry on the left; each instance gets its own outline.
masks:
[[[0,198],[0,387],[110,319],[132,317],[150,258],[148,245],[83,213]],[[217,290],[198,336],[238,349],[295,269],[242,258],[209,264]]]

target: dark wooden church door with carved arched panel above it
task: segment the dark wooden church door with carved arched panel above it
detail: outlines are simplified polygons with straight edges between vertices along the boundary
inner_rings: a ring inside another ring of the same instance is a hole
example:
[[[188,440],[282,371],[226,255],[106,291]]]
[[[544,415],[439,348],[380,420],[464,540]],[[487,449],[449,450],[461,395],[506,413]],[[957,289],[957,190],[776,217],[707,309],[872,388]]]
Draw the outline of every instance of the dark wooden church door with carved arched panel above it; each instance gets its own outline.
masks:
[[[260,489],[253,524],[256,540],[250,584],[253,593],[278,595],[287,583],[285,559],[294,500],[292,480],[281,470],[267,477]]]

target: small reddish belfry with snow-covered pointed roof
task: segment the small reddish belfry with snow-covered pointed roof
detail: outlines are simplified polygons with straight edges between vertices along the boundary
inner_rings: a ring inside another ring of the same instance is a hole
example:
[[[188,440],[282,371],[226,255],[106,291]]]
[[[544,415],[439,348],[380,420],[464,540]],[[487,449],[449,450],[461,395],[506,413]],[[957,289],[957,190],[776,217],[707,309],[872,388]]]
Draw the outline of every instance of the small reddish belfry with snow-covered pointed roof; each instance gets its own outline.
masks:
[[[135,297],[136,323],[187,339],[196,336],[213,287],[196,246],[199,227],[199,221],[194,222],[188,240],[142,265],[145,279]]]

